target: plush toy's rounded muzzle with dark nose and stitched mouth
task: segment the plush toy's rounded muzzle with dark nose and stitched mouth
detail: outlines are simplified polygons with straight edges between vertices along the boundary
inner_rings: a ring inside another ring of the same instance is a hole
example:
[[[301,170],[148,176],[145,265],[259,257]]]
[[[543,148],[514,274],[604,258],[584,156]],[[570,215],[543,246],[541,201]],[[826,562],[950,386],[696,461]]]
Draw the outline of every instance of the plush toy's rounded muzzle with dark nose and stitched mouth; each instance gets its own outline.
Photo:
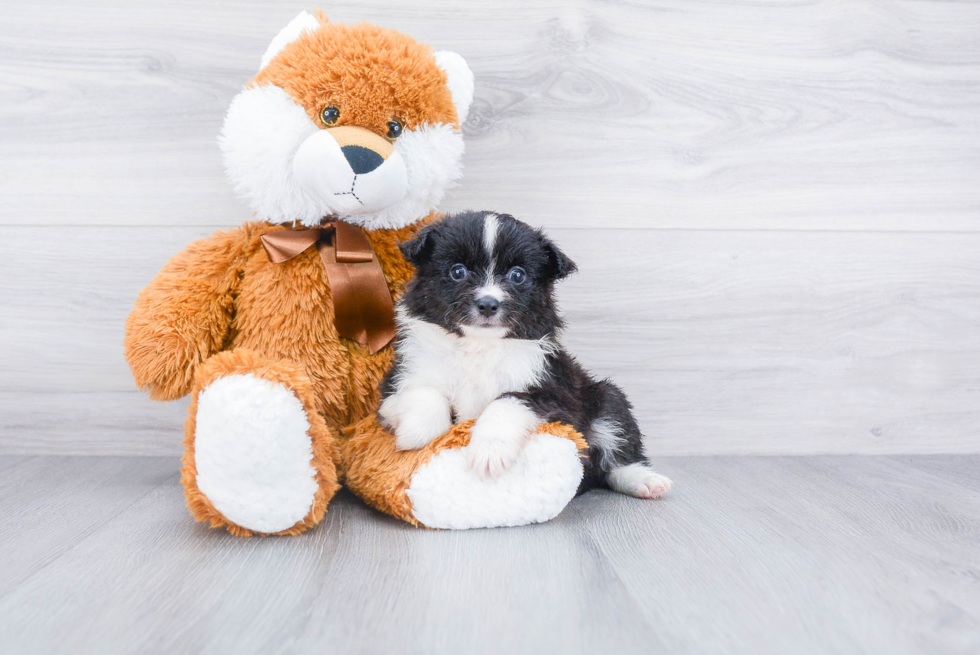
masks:
[[[293,174],[304,191],[338,214],[377,212],[408,191],[402,156],[390,141],[363,127],[317,130],[296,151]]]

